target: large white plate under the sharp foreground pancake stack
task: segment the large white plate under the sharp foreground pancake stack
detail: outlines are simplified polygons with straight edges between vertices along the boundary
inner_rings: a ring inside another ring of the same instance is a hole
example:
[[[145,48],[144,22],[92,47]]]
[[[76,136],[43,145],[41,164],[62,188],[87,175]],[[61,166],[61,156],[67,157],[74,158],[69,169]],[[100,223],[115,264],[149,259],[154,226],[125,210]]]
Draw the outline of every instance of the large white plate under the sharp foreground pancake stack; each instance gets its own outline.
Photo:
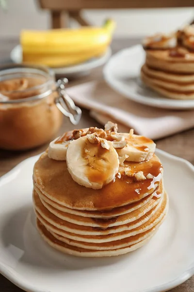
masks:
[[[163,292],[194,274],[194,166],[161,150],[169,214],[144,247],[79,258],[45,243],[32,210],[31,157],[0,179],[0,273],[28,292]]]

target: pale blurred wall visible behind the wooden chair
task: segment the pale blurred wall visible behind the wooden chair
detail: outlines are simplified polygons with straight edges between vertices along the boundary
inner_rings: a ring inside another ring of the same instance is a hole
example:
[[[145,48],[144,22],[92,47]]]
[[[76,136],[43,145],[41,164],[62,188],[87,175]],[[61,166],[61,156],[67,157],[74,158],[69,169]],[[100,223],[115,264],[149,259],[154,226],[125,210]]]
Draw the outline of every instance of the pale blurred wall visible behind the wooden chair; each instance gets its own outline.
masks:
[[[50,28],[50,13],[39,9],[37,0],[7,0],[7,11],[0,9],[0,37],[18,37],[20,30]],[[143,37],[156,32],[168,33],[190,22],[194,8],[165,9],[95,9],[83,10],[88,22],[101,25],[113,18],[117,27],[114,37]],[[71,27],[77,22],[71,20]]]

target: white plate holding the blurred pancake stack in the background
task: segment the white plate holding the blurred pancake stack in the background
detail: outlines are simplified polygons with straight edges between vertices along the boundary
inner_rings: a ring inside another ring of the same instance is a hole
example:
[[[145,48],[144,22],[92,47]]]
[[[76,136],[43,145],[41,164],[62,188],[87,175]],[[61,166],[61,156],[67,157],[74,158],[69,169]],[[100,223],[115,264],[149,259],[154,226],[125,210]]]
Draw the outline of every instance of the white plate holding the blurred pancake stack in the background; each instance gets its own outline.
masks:
[[[122,50],[105,65],[105,80],[114,90],[144,105],[174,110],[194,109],[194,100],[166,98],[146,87],[140,79],[140,69],[144,62],[145,52],[141,45]]]

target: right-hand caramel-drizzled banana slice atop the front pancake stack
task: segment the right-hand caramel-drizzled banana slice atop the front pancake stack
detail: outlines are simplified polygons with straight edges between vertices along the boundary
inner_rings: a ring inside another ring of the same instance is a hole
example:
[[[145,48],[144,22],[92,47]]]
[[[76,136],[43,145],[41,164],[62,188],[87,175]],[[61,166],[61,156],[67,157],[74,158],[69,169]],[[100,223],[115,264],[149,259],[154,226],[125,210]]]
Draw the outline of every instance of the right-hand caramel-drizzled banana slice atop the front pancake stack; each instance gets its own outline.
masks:
[[[116,149],[120,157],[127,157],[130,162],[143,162],[149,160],[156,149],[156,144],[144,136],[124,133],[127,145],[122,149]]]

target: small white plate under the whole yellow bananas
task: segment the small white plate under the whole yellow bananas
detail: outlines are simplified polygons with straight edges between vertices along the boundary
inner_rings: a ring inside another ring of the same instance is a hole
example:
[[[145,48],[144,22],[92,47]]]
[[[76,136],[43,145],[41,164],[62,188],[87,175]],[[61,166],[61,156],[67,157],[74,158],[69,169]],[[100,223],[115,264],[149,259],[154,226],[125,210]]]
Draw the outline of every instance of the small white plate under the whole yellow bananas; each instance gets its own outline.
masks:
[[[55,74],[61,74],[66,76],[85,73],[90,71],[91,69],[103,65],[110,58],[111,54],[112,54],[111,48],[108,48],[107,52],[98,58],[92,58],[84,63],[74,65],[71,67],[52,68],[52,70],[55,72]],[[22,48],[20,45],[17,45],[12,50],[10,58],[14,63],[22,62]]]

